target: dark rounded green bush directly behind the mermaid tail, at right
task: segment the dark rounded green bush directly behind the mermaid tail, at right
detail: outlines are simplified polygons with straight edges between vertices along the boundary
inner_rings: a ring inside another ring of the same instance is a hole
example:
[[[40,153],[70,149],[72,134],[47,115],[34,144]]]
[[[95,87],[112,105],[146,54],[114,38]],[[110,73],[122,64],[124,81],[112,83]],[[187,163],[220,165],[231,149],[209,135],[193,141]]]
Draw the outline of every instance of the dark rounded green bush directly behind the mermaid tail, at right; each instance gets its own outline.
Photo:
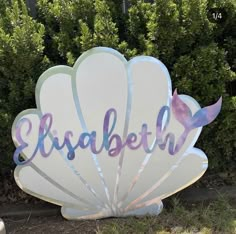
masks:
[[[236,100],[227,93],[226,84],[236,77],[225,57],[225,50],[209,44],[181,56],[172,71],[179,92],[191,94],[202,106],[214,103],[219,95],[223,97],[220,115],[203,128],[198,142],[209,157],[209,167],[215,171],[235,169]]]

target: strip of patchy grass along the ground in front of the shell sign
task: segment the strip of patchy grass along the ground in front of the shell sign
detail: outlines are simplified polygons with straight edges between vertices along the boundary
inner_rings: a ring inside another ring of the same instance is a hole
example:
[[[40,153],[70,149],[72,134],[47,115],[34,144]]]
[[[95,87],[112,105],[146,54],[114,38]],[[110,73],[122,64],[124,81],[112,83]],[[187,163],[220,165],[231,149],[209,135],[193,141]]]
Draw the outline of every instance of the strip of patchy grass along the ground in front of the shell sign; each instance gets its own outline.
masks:
[[[164,200],[159,216],[67,221],[60,215],[4,219],[8,233],[97,234],[236,234],[236,201],[224,197],[208,203]]]

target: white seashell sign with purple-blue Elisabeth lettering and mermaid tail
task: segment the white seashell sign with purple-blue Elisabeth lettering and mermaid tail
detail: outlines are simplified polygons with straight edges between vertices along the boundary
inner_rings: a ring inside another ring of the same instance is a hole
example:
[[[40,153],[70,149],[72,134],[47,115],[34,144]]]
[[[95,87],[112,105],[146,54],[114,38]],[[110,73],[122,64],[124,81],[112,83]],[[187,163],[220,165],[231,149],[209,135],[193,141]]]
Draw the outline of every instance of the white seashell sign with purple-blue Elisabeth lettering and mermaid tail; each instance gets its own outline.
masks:
[[[206,171],[194,144],[221,108],[221,98],[201,109],[189,96],[172,96],[159,60],[126,61],[104,47],[73,68],[44,72],[36,103],[13,123],[15,180],[67,219],[159,214],[162,199]]]

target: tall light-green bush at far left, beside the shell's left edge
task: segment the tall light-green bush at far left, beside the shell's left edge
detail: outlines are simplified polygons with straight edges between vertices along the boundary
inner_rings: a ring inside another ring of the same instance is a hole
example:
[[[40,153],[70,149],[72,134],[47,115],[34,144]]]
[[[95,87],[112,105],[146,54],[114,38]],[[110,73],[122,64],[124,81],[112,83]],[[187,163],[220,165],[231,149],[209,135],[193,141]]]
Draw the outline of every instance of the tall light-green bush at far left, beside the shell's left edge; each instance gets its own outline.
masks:
[[[35,106],[35,83],[49,65],[43,53],[44,31],[28,15],[23,0],[5,5],[0,19],[0,169],[11,166],[13,120],[23,109]]]

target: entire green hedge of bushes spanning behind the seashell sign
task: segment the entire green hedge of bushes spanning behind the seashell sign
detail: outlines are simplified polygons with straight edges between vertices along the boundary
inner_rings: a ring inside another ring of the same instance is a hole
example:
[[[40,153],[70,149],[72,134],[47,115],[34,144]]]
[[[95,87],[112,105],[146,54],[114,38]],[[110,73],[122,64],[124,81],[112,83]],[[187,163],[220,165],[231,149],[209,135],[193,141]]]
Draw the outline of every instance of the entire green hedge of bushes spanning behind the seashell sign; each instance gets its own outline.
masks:
[[[127,59],[159,58],[173,87],[202,106],[223,96],[219,117],[204,128],[198,145],[211,172],[235,171],[235,1],[129,2],[122,14],[118,0],[38,0],[35,19],[23,0],[0,3],[0,168],[12,161],[11,125],[17,113],[35,106],[39,75],[54,64],[72,65],[94,46],[110,46]],[[208,20],[211,7],[226,9],[223,23]]]

